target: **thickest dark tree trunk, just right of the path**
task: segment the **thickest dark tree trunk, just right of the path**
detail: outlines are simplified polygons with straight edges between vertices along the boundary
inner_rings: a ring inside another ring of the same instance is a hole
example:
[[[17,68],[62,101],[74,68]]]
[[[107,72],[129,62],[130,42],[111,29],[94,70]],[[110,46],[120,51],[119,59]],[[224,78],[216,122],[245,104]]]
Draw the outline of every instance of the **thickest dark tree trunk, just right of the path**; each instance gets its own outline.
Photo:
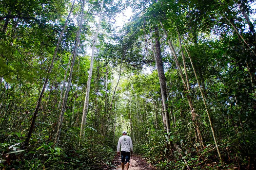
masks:
[[[155,51],[156,51],[156,65],[158,70],[158,78],[160,82],[161,88],[161,96],[162,96],[162,103],[164,109],[164,115],[166,120],[166,130],[167,134],[170,132],[170,119],[169,119],[169,112],[168,112],[168,105],[167,105],[167,87],[166,87],[166,78],[163,69],[163,61],[161,56],[161,48],[160,48],[160,41],[159,41],[159,34],[158,34],[158,27],[155,27]]]

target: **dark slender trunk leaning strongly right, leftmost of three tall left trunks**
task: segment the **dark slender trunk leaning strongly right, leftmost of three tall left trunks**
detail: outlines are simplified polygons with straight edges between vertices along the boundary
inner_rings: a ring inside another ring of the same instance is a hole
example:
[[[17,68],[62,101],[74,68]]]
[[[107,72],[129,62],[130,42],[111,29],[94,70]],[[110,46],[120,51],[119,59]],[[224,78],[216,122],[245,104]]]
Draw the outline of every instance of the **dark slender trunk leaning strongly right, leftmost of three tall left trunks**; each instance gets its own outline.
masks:
[[[29,131],[28,131],[28,135],[27,135],[26,140],[25,140],[25,143],[24,143],[24,147],[25,147],[25,148],[28,146],[28,142],[29,142],[30,137],[31,137],[31,135],[32,135],[32,132],[33,132],[33,129],[34,129],[34,126],[35,126],[35,122],[36,122],[36,119],[37,119],[39,107],[40,107],[40,104],[41,104],[41,100],[42,100],[42,97],[43,97],[43,93],[44,93],[45,87],[46,87],[46,85],[47,85],[47,82],[48,82],[50,73],[51,73],[51,71],[52,71],[52,69],[53,69],[54,60],[55,60],[55,58],[56,58],[56,56],[57,56],[57,52],[58,52],[58,50],[59,50],[59,45],[60,45],[62,36],[63,36],[63,34],[64,34],[64,31],[65,31],[65,29],[66,29],[66,26],[67,26],[69,17],[70,17],[70,15],[71,15],[72,11],[73,11],[73,8],[74,8],[74,5],[75,5],[75,1],[76,1],[76,0],[74,0],[74,2],[73,2],[73,5],[72,5],[72,7],[71,7],[71,9],[70,9],[70,12],[69,12],[69,14],[68,14],[68,17],[67,17],[67,19],[66,19],[66,22],[65,22],[65,24],[64,24],[64,26],[63,26],[63,28],[62,28],[62,31],[61,31],[61,33],[60,33],[60,35],[59,35],[59,40],[58,40],[57,46],[56,46],[55,51],[54,51],[54,55],[53,55],[53,58],[52,58],[52,62],[51,62],[51,64],[50,64],[50,67],[48,68],[48,71],[47,71],[47,74],[46,74],[46,77],[45,77],[45,81],[44,81],[42,90],[41,90],[41,92],[40,92],[39,98],[38,98],[37,106],[36,106],[36,109],[35,109],[35,112],[34,112],[34,114],[33,114],[33,118],[32,118],[31,124],[30,124],[30,128],[29,128]]]

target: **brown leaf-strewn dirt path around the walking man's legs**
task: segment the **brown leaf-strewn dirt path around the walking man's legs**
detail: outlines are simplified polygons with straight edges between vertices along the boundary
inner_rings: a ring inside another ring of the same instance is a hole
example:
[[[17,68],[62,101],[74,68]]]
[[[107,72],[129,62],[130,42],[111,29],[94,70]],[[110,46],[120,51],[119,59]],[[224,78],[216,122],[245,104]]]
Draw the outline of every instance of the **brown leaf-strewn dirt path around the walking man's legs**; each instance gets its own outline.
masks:
[[[118,156],[118,155],[115,156],[115,158],[113,160],[113,165],[115,168],[112,168],[111,170],[122,170],[121,169],[121,156]],[[149,163],[147,163],[140,156],[132,155],[131,160],[130,160],[129,170],[156,170],[156,169],[153,166],[151,166]]]

